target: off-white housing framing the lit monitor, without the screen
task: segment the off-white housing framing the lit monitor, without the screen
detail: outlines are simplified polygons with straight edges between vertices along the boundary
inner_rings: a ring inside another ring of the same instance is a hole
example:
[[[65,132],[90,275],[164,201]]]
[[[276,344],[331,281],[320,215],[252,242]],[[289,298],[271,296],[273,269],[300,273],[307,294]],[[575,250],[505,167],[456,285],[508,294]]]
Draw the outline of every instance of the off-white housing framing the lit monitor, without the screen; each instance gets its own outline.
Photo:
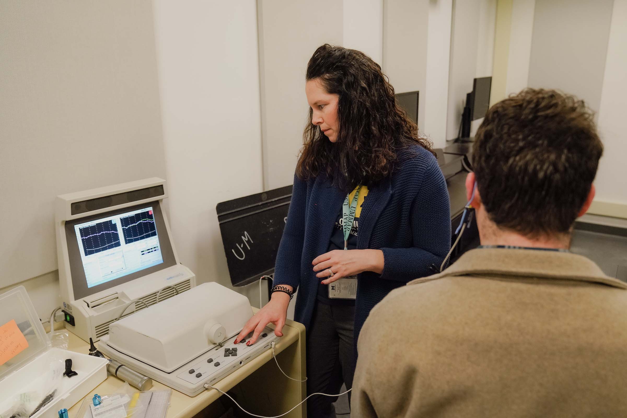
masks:
[[[125,316],[145,308],[145,305],[157,303],[157,292],[165,286],[173,286],[162,291],[159,302],[170,298],[176,293],[182,293],[196,286],[196,276],[192,271],[179,262],[167,216],[162,212],[169,244],[174,253],[176,263],[172,266],[145,274],[132,281],[111,286],[106,290],[95,291],[90,295],[75,297],[73,286],[70,255],[68,252],[65,224],[97,214],[106,216],[107,212],[125,207],[161,202],[167,197],[166,180],[158,177],[137,180],[83,192],[64,194],[56,197],[55,229],[56,249],[59,265],[59,282],[63,311],[73,316],[74,325],[67,320],[65,327],[85,341],[93,338],[98,341],[109,332],[109,325],[117,320],[122,310],[134,300],[134,306],[129,306]],[[161,238],[160,238],[161,239]],[[142,303],[143,302],[143,303]]]

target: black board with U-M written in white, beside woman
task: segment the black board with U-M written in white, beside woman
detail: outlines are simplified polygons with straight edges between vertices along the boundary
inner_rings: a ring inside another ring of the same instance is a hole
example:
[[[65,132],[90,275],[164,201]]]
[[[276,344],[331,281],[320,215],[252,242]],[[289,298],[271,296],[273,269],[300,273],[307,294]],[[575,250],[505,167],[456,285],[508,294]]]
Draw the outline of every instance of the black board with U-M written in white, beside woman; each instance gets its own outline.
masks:
[[[218,203],[218,222],[233,286],[274,272],[292,186]]]

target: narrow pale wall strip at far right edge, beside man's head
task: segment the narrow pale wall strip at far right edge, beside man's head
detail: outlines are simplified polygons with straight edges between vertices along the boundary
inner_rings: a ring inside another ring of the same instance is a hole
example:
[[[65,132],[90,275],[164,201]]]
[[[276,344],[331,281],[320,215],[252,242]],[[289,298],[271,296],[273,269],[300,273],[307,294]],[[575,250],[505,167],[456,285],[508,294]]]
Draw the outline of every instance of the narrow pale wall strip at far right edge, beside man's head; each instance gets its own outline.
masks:
[[[605,146],[596,185],[596,200],[627,205],[627,0],[614,0],[608,55],[599,105],[599,132]]]

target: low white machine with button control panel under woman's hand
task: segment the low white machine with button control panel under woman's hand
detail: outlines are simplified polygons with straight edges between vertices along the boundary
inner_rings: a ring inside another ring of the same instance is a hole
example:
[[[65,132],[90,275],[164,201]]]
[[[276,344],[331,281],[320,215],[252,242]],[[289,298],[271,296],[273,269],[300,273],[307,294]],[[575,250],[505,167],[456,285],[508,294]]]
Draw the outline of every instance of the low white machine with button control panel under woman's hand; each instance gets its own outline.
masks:
[[[255,344],[234,344],[251,316],[248,298],[218,283],[203,283],[113,323],[98,349],[157,382],[195,396],[205,390],[204,384],[231,374],[277,340],[266,328]]]

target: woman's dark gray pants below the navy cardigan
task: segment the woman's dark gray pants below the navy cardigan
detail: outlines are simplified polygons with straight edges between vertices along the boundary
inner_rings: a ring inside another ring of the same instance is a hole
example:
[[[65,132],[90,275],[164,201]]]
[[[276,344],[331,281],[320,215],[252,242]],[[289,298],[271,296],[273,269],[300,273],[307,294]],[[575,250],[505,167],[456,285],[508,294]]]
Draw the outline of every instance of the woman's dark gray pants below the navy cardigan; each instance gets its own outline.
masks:
[[[317,301],[307,332],[307,395],[316,392],[339,394],[342,382],[346,389],[352,387],[355,373],[354,321],[355,306],[325,305]],[[310,397],[307,400],[307,416],[335,417],[332,405],[335,400],[337,397]]]

